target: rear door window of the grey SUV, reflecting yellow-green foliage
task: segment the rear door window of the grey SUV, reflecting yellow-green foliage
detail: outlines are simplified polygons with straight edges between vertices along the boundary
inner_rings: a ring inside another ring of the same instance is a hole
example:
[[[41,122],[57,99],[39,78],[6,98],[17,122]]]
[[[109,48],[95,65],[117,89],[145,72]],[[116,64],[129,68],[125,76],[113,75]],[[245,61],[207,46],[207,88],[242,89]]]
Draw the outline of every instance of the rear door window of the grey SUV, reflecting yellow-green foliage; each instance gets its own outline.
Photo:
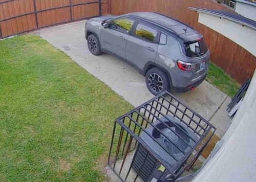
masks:
[[[138,24],[135,30],[135,35],[147,41],[154,42],[157,38],[157,30]]]

